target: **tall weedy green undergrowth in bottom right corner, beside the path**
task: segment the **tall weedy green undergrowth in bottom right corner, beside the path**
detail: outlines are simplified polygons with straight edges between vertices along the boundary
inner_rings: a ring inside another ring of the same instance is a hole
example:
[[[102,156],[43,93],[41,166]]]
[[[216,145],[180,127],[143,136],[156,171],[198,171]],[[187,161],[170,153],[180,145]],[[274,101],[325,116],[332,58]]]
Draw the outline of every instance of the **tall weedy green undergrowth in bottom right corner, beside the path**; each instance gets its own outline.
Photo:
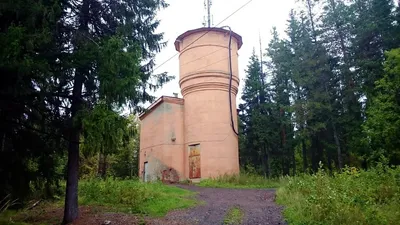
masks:
[[[380,164],[364,171],[346,167],[332,176],[291,177],[277,191],[290,224],[397,224],[400,219],[400,167]]]

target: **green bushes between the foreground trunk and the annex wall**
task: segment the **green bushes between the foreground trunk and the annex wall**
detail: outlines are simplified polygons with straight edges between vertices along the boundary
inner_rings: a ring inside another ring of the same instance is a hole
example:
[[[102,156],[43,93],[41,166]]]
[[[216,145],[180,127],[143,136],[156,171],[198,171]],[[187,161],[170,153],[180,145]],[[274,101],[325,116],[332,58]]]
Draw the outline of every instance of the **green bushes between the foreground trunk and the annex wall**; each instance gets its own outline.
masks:
[[[81,179],[97,176],[104,178],[108,175],[132,179],[138,175],[139,122],[137,116],[131,114],[125,117],[106,110],[100,112],[100,115],[92,113],[85,118],[84,124],[86,129],[82,136],[82,151],[80,152]]]

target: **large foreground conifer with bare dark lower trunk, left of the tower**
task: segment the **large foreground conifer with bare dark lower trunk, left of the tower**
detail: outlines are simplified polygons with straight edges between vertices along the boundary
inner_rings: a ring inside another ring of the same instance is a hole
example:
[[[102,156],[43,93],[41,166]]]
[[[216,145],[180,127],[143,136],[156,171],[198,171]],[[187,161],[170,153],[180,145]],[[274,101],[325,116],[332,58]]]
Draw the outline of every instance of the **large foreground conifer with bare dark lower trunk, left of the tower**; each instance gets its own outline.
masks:
[[[62,102],[67,118],[68,164],[64,223],[78,217],[79,144],[86,111],[98,104],[108,110],[122,106],[140,110],[138,103],[152,100],[147,92],[171,79],[152,75],[154,53],[165,43],[155,33],[156,12],[167,6],[162,0],[63,3],[57,59],[60,73],[53,79],[54,98]],[[157,83],[151,83],[151,80]]]

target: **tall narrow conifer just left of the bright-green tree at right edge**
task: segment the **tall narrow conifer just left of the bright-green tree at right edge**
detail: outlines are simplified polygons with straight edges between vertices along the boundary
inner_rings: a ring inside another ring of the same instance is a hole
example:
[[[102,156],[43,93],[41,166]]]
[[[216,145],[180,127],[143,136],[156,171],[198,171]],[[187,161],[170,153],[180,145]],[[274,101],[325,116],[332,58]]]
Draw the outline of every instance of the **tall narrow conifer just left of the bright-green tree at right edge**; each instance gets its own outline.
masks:
[[[361,137],[361,104],[359,103],[361,83],[356,79],[354,57],[351,52],[351,32],[354,29],[354,15],[351,7],[344,1],[326,0],[322,17],[322,39],[329,55],[336,61],[333,72],[337,76],[337,85],[332,96],[334,110],[335,142],[338,148],[338,166],[343,167],[344,149],[360,151],[357,143]],[[340,99],[340,101],[338,101]],[[337,126],[336,126],[337,125]],[[338,127],[338,128],[337,128]],[[341,141],[340,141],[340,140]],[[339,151],[341,153],[339,153]]]

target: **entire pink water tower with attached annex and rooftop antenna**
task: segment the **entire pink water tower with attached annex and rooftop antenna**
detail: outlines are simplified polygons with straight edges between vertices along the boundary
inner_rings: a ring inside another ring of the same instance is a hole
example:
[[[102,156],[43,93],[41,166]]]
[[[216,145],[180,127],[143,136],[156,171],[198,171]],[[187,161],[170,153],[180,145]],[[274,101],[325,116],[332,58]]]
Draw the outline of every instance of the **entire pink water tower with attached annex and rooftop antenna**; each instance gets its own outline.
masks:
[[[162,96],[140,115],[144,181],[198,180],[239,173],[236,95],[242,37],[207,20],[175,41],[183,99]]]

